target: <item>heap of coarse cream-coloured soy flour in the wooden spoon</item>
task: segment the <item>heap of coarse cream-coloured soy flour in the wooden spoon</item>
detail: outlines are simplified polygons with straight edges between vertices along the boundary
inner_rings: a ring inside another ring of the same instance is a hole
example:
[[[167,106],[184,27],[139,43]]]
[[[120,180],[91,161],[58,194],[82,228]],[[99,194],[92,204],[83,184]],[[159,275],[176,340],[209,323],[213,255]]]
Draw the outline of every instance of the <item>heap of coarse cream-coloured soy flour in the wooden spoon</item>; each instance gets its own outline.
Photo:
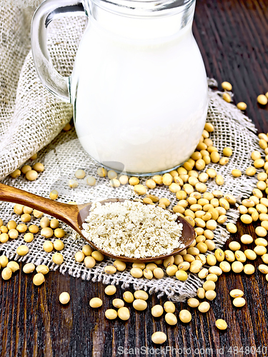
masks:
[[[169,254],[184,248],[177,213],[137,201],[93,203],[83,223],[83,235],[97,247],[130,258]]]

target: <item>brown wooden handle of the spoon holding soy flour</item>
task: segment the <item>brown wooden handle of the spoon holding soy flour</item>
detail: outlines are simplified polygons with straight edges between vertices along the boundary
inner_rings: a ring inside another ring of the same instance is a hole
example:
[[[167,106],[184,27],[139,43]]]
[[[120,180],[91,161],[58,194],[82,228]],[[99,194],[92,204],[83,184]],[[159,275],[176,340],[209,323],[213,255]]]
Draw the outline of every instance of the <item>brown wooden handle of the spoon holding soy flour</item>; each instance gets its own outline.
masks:
[[[74,226],[75,217],[78,214],[78,207],[76,205],[56,202],[19,188],[4,185],[3,183],[0,183],[0,201],[29,206],[50,216],[54,216],[70,226]]]

